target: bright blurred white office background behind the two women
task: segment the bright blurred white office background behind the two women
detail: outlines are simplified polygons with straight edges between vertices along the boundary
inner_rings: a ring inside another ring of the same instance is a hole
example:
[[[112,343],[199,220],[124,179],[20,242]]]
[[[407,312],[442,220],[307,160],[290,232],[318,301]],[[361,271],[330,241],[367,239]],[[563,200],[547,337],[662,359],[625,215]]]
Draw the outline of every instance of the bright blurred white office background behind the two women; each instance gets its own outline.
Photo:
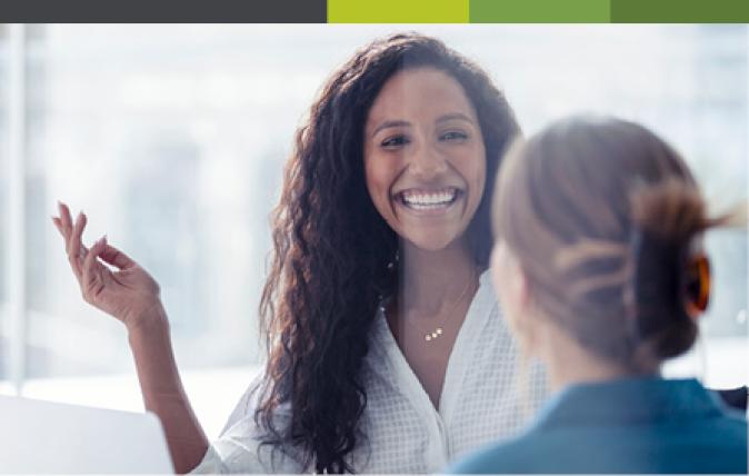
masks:
[[[747,202],[746,26],[423,26],[505,88],[527,133],[577,111],[671,141],[716,211]],[[393,26],[0,24],[0,391],[138,409],[123,327],[80,297],[50,216],[89,217],[161,284],[209,436],[261,351],[257,305],[294,129]],[[747,230],[708,239],[703,339],[671,375],[747,369]]]

